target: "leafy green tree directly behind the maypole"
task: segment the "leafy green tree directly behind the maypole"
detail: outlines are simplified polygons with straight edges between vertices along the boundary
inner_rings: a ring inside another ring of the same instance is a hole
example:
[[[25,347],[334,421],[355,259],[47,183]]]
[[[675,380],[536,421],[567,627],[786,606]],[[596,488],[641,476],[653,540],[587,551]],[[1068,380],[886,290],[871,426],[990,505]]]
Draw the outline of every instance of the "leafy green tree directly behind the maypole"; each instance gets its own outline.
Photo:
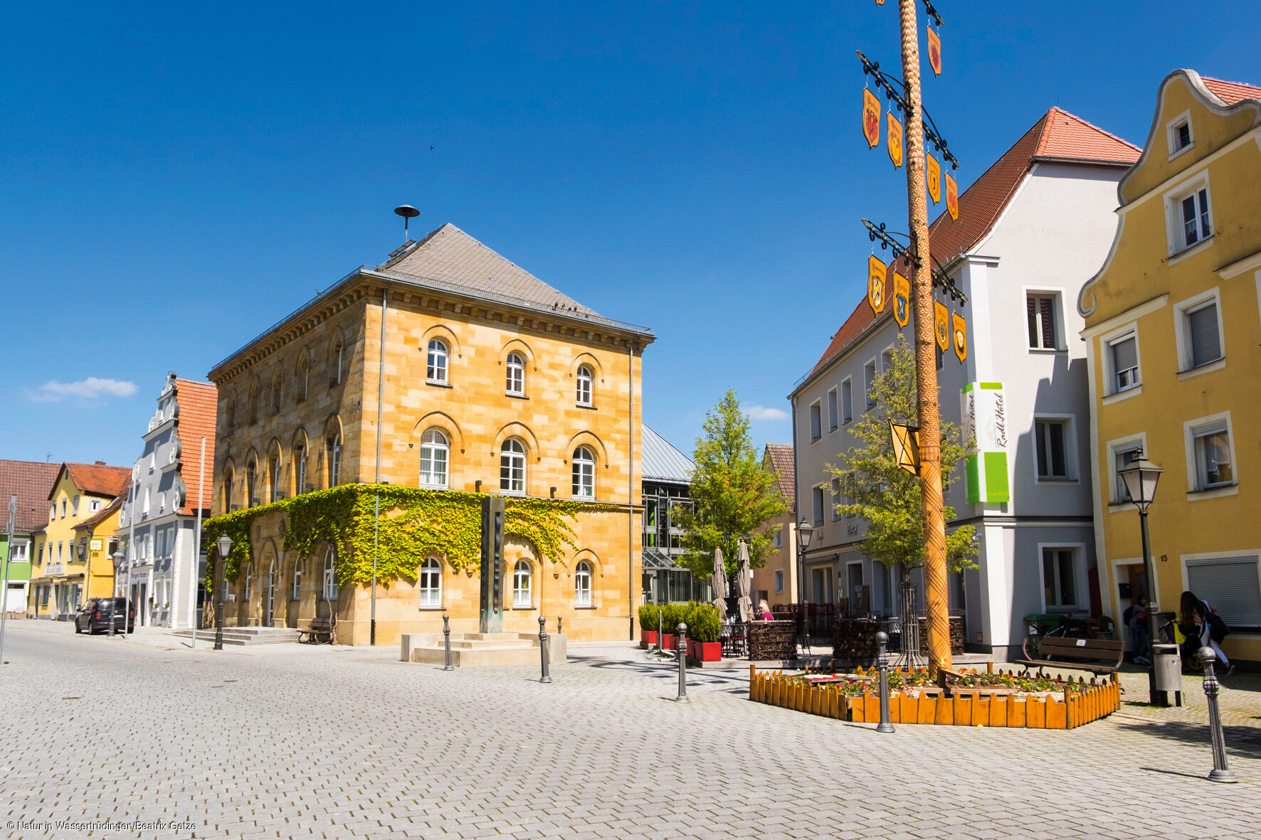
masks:
[[[846,501],[837,510],[868,521],[863,551],[886,566],[900,566],[903,579],[909,570],[924,565],[924,517],[921,507],[919,477],[898,467],[889,423],[914,425],[918,416],[915,396],[915,357],[899,334],[889,356],[890,365],[876,373],[871,383],[875,407],[854,424],[857,444],[839,454],[840,467],[828,472],[840,479]],[[955,483],[955,467],[968,454],[960,443],[960,430],[952,423],[941,424],[942,493]],[[955,508],[943,508],[946,521]],[[951,571],[975,569],[976,528],[961,525],[946,534],[946,564]]]

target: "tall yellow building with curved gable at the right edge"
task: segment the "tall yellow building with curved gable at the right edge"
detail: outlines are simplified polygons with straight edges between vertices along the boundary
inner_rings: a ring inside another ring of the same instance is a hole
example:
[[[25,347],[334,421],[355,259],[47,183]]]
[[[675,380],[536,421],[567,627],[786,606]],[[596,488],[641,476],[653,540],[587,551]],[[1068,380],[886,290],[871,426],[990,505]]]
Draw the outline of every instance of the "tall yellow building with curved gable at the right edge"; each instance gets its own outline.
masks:
[[[1090,348],[1095,531],[1106,609],[1145,586],[1137,510],[1119,468],[1164,468],[1150,507],[1159,607],[1194,590],[1261,660],[1261,90],[1189,71],[1161,85],[1121,180],[1120,225],[1082,290]]]

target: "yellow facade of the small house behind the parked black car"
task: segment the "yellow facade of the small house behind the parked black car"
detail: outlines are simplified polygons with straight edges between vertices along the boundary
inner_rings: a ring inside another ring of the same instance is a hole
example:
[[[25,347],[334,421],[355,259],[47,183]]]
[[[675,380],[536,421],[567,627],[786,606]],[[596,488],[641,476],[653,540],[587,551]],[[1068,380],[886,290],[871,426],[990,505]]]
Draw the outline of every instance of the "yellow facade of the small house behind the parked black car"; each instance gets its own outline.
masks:
[[[112,501],[110,496],[84,492],[69,470],[62,468],[49,494],[48,527],[33,540],[29,617],[73,615],[88,598],[105,598],[113,590],[113,560],[107,556],[105,544],[117,527],[117,513],[112,525],[96,528],[103,536],[76,530]],[[102,542],[93,549],[97,541]]]

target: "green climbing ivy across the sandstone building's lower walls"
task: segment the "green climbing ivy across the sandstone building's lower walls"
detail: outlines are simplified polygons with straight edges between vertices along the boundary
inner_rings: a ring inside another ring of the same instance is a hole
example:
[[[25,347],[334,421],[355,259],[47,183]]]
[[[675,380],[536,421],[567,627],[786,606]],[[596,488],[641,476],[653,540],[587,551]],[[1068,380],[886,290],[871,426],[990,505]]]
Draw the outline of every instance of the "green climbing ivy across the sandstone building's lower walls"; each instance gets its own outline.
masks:
[[[380,517],[377,499],[380,498]],[[288,517],[284,547],[310,554],[322,541],[337,546],[337,583],[372,583],[376,557],[377,580],[416,580],[425,557],[441,555],[453,569],[477,565],[482,556],[482,499],[484,493],[431,491],[393,484],[343,484],[303,493],[271,505],[233,511],[206,521],[208,546],[227,534],[232,539],[227,578],[236,580],[241,566],[253,555],[253,521],[267,513]],[[612,505],[507,498],[503,534],[528,540],[540,559],[562,563],[565,547],[576,549],[572,522],[579,511],[618,510]],[[380,526],[377,526],[380,522]],[[213,589],[213,566],[207,568],[207,588]]]

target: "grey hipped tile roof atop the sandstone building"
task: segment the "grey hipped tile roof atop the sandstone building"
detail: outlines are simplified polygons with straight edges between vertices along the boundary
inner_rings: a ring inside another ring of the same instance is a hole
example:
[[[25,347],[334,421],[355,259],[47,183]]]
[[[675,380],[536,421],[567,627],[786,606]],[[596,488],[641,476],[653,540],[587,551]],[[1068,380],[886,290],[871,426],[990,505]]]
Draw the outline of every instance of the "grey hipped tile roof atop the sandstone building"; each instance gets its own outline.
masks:
[[[401,248],[377,266],[377,271],[417,280],[440,280],[557,310],[596,314],[449,222],[414,246]]]

